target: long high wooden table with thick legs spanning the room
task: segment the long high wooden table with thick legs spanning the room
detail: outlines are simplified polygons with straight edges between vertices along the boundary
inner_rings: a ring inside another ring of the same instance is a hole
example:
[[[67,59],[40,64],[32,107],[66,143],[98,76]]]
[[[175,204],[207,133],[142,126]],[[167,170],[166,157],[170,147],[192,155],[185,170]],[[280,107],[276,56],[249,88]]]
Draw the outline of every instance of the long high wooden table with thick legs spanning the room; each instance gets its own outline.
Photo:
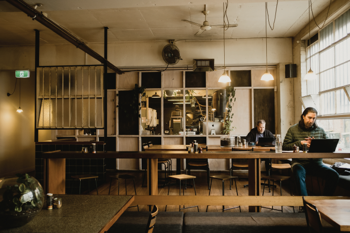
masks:
[[[350,158],[350,153],[275,153],[274,151],[203,151],[201,154],[187,151],[100,151],[82,153],[80,151],[59,151],[43,153],[46,159],[44,176],[47,180],[47,190],[50,193],[65,193],[65,158],[69,159],[148,159],[147,186],[149,195],[158,195],[158,159],[248,159],[249,164],[249,196],[260,196],[260,160],[261,159],[290,159],[290,158],[321,158],[343,159]],[[197,196],[199,198],[199,196]],[[213,196],[215,198],[215,196]],[[250,206],[249,211],[260,212],[260,207]]]

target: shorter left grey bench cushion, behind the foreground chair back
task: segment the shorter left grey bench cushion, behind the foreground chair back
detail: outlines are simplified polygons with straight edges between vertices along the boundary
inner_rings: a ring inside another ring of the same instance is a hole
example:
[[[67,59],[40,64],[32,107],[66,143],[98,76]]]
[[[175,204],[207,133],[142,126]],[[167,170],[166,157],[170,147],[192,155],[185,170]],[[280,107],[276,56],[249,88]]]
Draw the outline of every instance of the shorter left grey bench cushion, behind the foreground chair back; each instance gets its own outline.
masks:
[[[145,233],[150,214],[151,212],[124,212],[108,232]],[[158,212],[153,232],[182,233],[183,220],[184,212]]]

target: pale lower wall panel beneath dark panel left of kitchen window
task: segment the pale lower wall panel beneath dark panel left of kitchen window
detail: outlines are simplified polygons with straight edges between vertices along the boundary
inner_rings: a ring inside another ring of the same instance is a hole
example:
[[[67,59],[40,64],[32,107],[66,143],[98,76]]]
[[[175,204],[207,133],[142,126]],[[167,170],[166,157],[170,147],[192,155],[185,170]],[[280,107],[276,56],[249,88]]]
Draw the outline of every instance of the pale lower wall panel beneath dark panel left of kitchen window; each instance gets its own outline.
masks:
[[[138,151],[138,137],[118,137],[119,151]],[[119,159],[119,170],[138,170],[139,159]]]

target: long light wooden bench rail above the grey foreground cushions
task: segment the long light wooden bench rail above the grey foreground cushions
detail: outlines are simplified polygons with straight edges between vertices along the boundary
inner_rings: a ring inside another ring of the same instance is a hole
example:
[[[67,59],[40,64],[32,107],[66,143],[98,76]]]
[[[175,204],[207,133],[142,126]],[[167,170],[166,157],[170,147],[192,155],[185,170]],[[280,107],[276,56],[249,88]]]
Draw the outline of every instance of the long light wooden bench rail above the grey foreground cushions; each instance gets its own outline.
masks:
[[[132,205],[198,206],[303,206],[301,196],[144,196],[136,195]],[[350,197],[310,196],[306,200],[345,199]]]

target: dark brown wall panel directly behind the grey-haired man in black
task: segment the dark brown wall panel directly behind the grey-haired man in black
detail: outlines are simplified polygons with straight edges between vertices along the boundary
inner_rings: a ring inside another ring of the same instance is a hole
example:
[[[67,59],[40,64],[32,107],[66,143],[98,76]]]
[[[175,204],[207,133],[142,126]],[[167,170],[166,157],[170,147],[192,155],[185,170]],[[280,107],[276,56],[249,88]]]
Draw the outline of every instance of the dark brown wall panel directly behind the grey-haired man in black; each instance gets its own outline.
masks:
[[[254,89],[254,122],[265,120],[266,129],[275,133],[274,89]]]

